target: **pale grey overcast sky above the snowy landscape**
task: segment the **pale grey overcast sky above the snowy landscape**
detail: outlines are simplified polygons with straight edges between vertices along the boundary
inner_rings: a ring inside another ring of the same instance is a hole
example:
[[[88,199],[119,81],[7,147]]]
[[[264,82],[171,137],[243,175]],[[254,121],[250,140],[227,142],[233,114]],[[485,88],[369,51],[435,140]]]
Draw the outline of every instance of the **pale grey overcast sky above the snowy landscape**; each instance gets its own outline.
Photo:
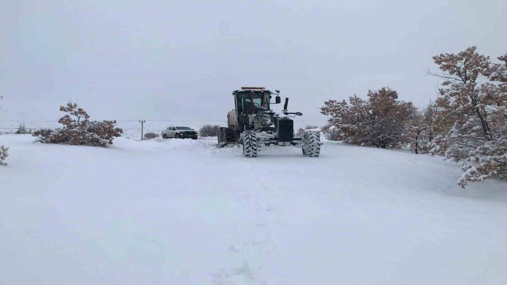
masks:
[[[68,100],[92,119],[225,120],[241,86],[304,119],[382,86],[423,106],[433,55],[507,53],[505,0],[241,2],[0,0],[0,120],[56,120]]]

